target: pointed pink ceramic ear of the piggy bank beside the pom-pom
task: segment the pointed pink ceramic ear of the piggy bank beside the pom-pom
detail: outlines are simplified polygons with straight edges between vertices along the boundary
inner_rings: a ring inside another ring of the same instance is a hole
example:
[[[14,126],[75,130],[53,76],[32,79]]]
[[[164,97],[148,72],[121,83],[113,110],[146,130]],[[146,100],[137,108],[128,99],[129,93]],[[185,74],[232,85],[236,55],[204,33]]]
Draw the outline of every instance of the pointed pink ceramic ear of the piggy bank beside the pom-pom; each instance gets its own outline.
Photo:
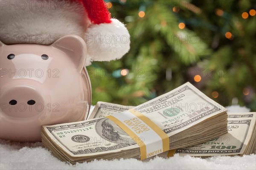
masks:
[[[86,43],[81,37],[66,35],[55,41],[52,47],[66,53],[76,65],[77,70],[82,71],[86,59]]]

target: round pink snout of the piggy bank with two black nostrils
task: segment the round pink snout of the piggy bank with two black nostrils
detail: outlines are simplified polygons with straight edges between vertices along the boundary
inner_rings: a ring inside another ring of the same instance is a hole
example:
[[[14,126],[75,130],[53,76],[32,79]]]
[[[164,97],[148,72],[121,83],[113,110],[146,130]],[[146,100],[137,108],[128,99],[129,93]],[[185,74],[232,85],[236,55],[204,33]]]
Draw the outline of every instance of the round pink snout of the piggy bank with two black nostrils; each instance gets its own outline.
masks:
[[[45,111],[45,91],[29,85],[16,85],[3,89],[1,111],[8,116],[28,118]]]

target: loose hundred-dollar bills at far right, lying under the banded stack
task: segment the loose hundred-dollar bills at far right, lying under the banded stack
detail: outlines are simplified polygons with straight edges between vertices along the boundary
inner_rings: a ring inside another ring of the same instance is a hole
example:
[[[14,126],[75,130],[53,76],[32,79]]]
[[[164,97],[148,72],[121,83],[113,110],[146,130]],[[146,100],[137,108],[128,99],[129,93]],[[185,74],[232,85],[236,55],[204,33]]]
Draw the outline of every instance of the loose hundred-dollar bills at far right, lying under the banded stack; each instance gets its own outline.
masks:
[[[228,133],[194,146],[170,150],[158,156],[233,156],[255,152],[256,112],[228,113]]]

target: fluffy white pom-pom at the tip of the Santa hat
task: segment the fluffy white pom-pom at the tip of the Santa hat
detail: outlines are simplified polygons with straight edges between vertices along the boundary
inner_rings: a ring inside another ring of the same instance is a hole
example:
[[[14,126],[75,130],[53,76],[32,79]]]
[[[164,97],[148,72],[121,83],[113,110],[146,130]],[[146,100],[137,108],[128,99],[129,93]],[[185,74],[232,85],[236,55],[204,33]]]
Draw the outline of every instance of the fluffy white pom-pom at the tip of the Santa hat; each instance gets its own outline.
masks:
[[[111,19],[111,23],[92,24],[87,28],[84,40],[87,44],[85,66],[92,61],[119,59],[130,49],[130,34],[123,23]]]

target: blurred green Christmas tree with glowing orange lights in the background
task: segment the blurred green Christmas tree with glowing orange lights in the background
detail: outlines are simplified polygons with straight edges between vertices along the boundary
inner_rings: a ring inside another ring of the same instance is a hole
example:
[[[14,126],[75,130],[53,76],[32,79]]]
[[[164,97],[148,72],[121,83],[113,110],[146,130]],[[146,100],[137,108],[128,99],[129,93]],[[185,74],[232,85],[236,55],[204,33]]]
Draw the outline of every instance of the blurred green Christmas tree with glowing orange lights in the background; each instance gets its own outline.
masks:
[[[139,105],[191,82],[223,106],[256,111],[256,1],[105,1],[131,49],[87,67],[93,105]]]

